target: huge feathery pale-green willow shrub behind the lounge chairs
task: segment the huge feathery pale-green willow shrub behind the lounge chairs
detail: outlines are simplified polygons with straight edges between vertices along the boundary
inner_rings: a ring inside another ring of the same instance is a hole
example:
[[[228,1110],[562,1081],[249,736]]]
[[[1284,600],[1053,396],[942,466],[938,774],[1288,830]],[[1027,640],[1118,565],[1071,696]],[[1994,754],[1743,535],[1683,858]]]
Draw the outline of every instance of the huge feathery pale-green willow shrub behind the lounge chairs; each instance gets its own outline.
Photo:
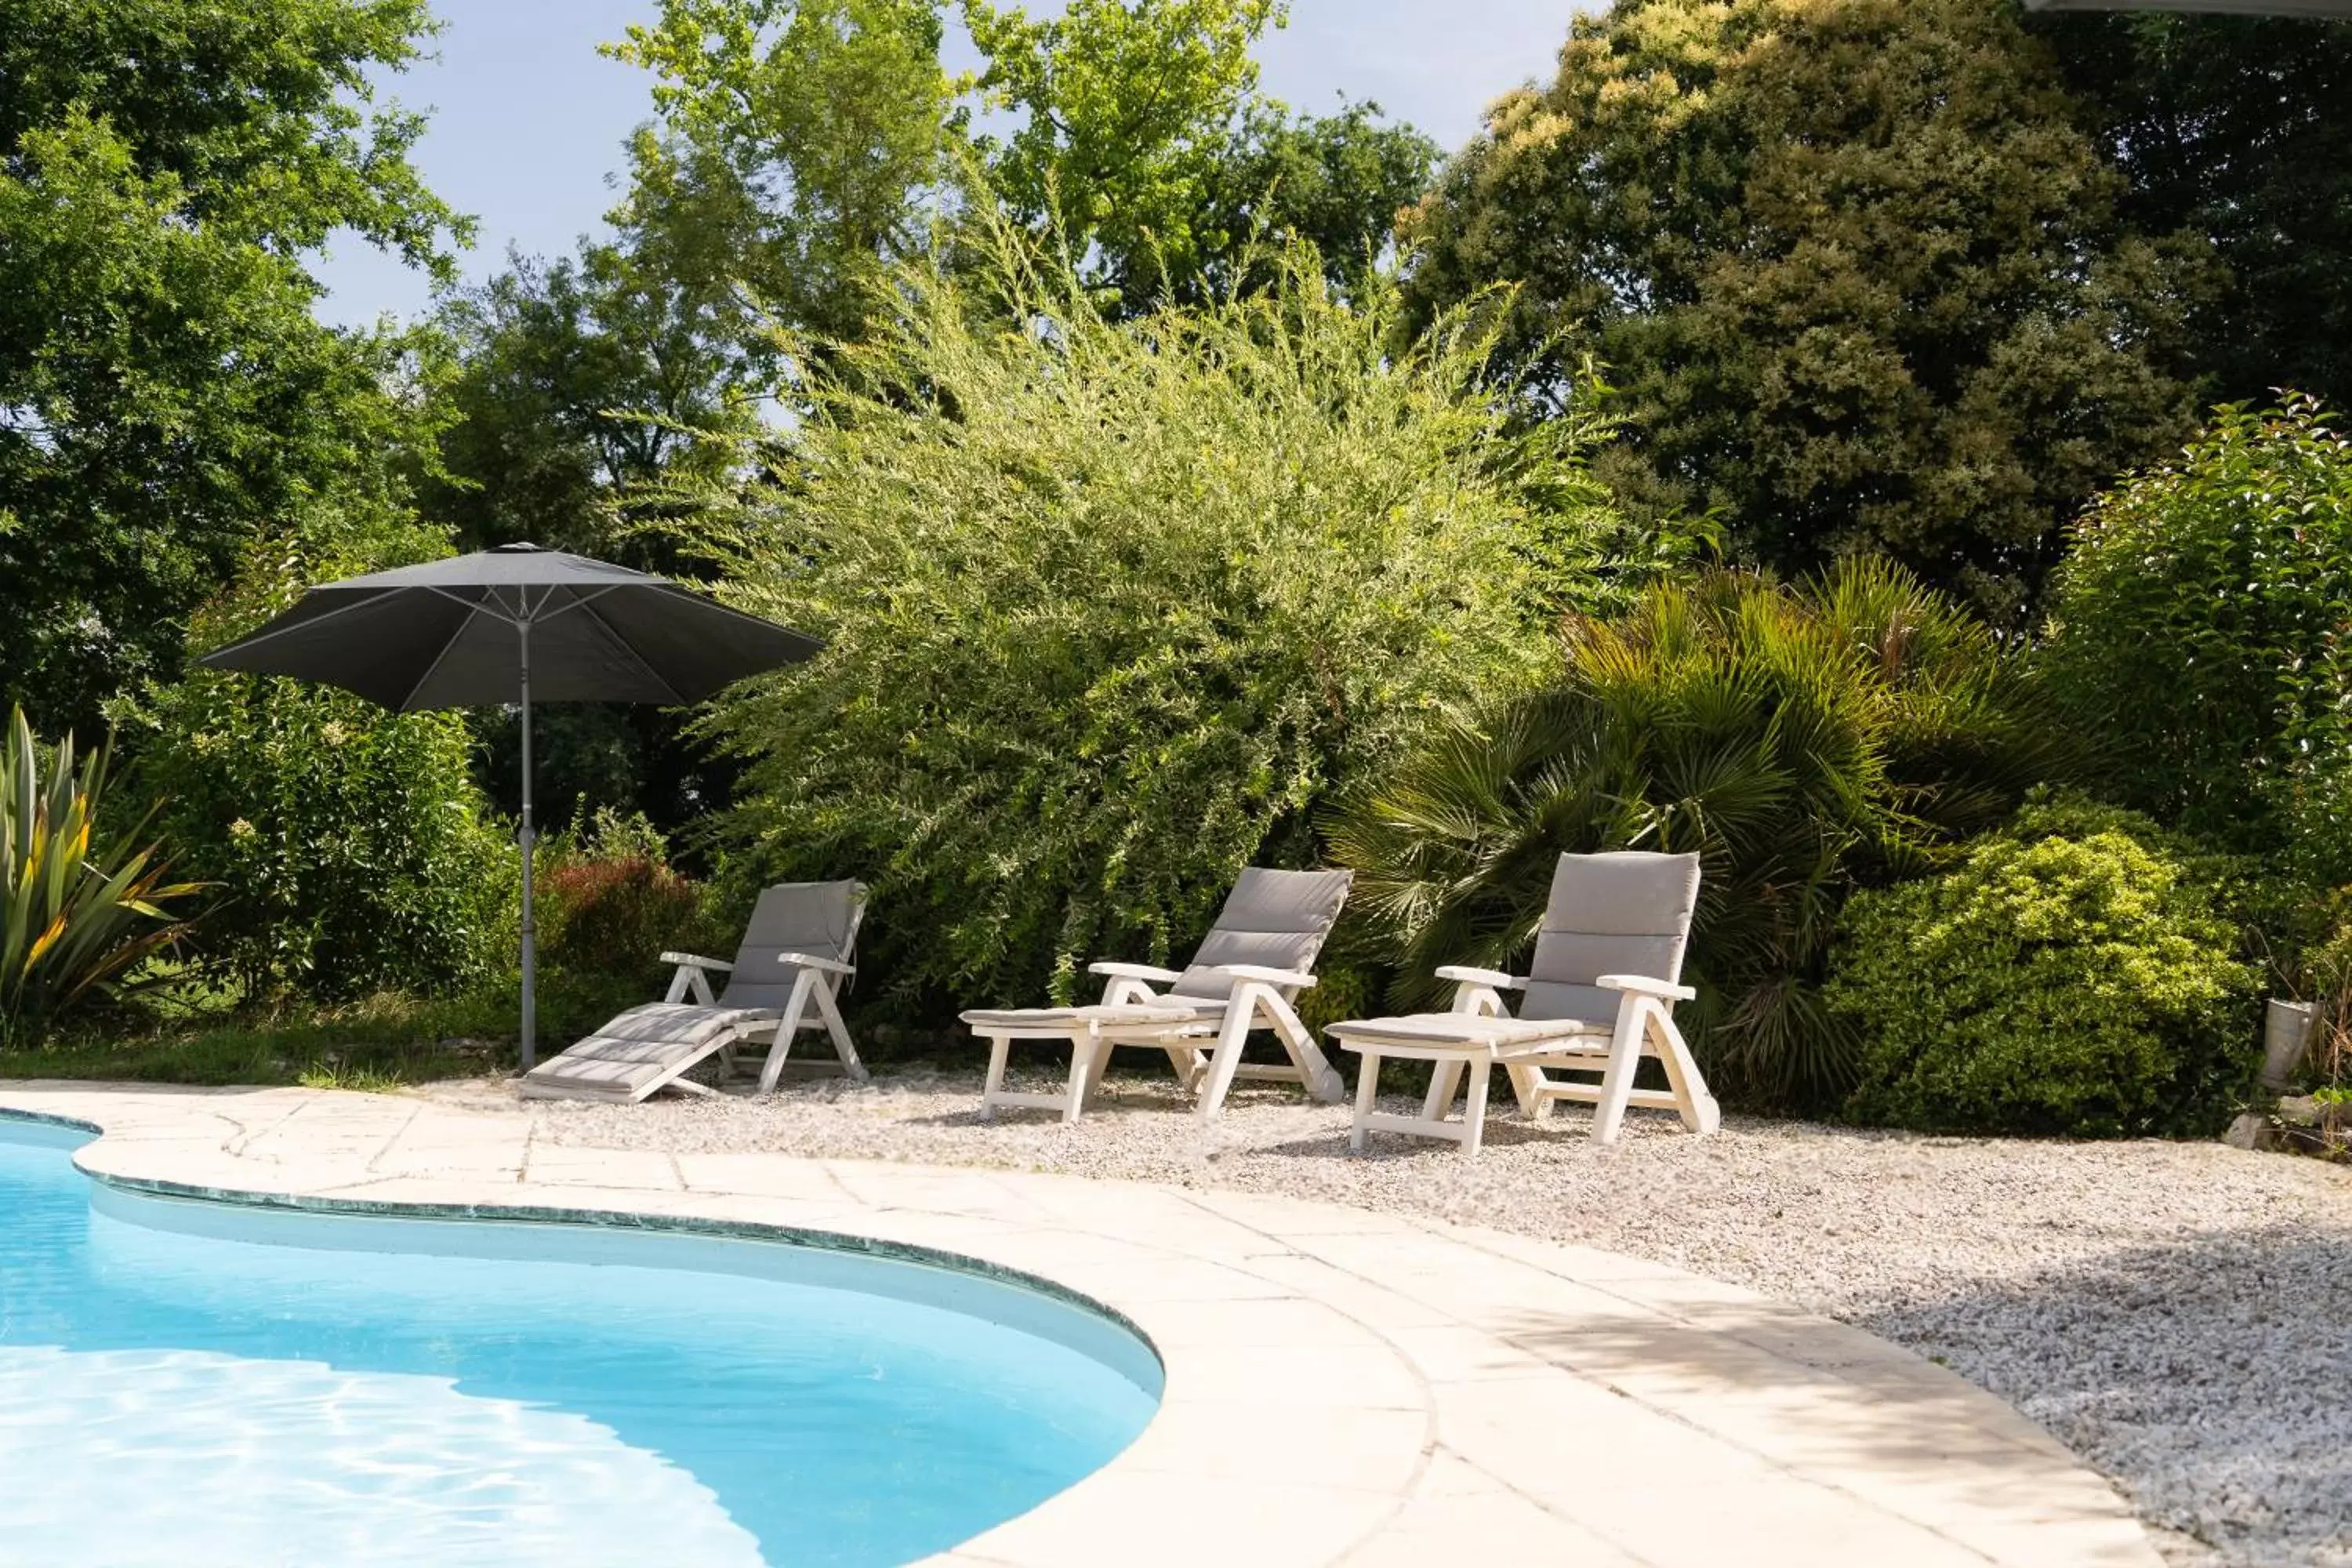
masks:
[[[1240,867],[1315,863],[1319,802],[1635,571],[1602,423],[1512,421],[1468,317],[1392,353],[1381,287],[1341,306],[1291,254],[1110,322],[985,244],[800,355],[722,545],[743,604],[826,639],[717,710],[748,863],[866,877],[866,969],[924,1006],[1181,954]]]

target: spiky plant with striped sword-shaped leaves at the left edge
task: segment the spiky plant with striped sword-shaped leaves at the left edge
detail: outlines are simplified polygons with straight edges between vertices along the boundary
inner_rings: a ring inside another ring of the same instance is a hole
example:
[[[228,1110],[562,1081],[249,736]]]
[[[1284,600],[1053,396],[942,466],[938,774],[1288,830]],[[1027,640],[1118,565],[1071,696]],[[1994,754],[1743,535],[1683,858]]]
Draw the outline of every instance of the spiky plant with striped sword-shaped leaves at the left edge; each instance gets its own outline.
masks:
[[[99,827],[106,748],[75,764],[73,736],[33,738],[19,708],[0,752],[0,1041],[54,1018],[183,931],[162,905],[198,891],[167,884],[155,846]]]

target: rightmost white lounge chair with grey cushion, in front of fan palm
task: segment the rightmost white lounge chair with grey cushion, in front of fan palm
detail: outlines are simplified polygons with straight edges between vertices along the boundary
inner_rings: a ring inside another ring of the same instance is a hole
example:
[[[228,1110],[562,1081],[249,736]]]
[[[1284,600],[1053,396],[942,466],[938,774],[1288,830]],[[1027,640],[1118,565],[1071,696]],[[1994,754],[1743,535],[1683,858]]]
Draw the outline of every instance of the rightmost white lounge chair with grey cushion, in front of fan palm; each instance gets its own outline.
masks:
[[[1529,978],[1446,964],[1437,978],[1454,980],[1451,1013],[1331,1025],[1331,1034],[1364,1058],[1348,1147],[1362,1152],[1364,1133],[1378,1131],[1451,1138],[1477,1154],[1486,1128],[1486,1074],[1498,1063],[1529,1121],[1543,1121],[1562,1100],[1583,1100],[1595,1107],[1592,1138],[1599,1143],[1616,1140],[1628,1105],[1675,1110],[1693,1133],[1712,1133],[1722,1112],[1672,1011],[1675,1001],[1696,994],[1679,985],[1696,905],[1698,856],[1559,856]],[[1517,1016],[1503,1006],[1505,990],[1522,992]],[[1388,1056],[1432,1063],[1418,1117],[1371,1110]],[[1665,1067],[1665,1088],[1632,1086],[1644,1056]],[[1463,1072],[1470,1091],[1461,1119],[1451,1119]],[[1597,1079],[1555,1077],[1562,1072]]]

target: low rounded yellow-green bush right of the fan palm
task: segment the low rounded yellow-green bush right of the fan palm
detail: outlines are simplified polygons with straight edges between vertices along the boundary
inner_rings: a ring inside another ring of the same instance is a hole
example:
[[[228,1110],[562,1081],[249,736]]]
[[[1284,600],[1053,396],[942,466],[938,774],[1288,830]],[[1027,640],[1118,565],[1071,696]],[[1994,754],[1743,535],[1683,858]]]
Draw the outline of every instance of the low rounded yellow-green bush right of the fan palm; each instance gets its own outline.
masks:
[[[2213,1133],[2256,1060],[2234,867],[2145,816],[2027,806],[1940,877],[1846,905],[1828,985],[1863,1037],[1860,1121],[1947,1133]]]

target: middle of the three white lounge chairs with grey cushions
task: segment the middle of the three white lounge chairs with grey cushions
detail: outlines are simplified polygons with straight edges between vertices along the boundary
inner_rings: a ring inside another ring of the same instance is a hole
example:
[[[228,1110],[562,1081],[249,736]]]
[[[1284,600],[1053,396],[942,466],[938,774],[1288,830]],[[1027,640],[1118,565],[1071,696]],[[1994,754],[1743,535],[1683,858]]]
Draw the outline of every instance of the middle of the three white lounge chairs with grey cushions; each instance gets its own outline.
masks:
[[[988,1084],[981,1117],[1000,1105],[1058,1110],[1077,1121],[1103,1081],[1115,1046],[1167,1051],[1176,1077],[1200,1098],[1200,1117],[1216,1119],[1235,1079],[1284,1079],[1305,1084],[1317,1100],[1348,1093],[1338,1070],[1298,1023],[1294,1001],[1315,985],[1322,952],[1350,872],[1275,872],[1251,865],[1232,884],[1225,907],[1202,938],[1188,969],[1152,964],[1089,964],[1103,976],[1103,999],[1091,1006],[976,1009],[964,1013],[974,1034],[988,1039]],[[1155,992],[1164,985],[1164,992]],[[1287,1063],[1244,1063],[1251,1030],[1272,1030]],[[1004,1065],[1016,1039],[1058,1039],[1070,1046],[1070,1081],[1061,1093],[1014,1093],[1004,1088]]]

